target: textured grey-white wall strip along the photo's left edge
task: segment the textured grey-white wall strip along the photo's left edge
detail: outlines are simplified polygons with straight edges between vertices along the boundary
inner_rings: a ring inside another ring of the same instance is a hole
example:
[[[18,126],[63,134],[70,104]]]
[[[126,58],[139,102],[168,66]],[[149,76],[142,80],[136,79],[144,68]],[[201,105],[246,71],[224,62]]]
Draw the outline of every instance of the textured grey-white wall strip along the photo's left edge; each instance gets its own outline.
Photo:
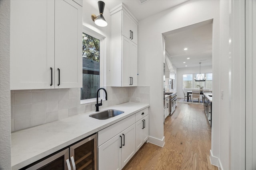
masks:
[[[11,169],[10,1],[0,0],[0,170]]]

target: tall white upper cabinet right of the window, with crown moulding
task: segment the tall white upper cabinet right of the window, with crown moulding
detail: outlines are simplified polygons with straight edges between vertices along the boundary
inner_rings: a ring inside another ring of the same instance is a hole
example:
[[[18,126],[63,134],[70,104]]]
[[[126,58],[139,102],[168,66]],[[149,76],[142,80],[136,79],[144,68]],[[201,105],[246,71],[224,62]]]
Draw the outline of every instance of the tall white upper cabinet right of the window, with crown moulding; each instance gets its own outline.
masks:
[[[124,4],[110,10],[111,86],[137,86],[138,21]]]

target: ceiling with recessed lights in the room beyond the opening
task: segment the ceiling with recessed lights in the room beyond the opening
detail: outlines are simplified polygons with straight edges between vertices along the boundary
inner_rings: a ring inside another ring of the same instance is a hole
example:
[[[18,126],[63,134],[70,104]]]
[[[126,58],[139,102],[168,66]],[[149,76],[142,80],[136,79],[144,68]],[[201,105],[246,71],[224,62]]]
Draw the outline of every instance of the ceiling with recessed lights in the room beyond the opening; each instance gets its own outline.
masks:
[[[169,31],[164,36],[166,51],[176,68],[195,67],[200,62],[201,66],[212,66],[212,20]]]

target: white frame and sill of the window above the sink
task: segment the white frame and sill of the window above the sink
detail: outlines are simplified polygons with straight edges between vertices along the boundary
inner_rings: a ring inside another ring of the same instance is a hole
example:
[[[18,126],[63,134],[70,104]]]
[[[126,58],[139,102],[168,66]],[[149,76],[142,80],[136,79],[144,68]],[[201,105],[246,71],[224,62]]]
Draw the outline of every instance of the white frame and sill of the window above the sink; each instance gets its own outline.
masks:
[[[83,25],[82,33],[85,33],[87,35],[90,35],[100,40],[100,88],[101,88],[104,85],[103,81],[104,81],[104,75],[105,75],[104,62],[106,62],[106,37],[104,35],[101,35],[100,33],[97,33],[96,31],[93,31],[92,29],[84,25]],[[82,38],[81,38],[81,43],[82,43]],[[80,104],[88,104],[88,103],[96,102],[96,100],[97,98],[80,100]],[[103,93],[103,90],[100,90],[100,98],[98,98],[98,100],[99,101],[105,100],[105,94]]]

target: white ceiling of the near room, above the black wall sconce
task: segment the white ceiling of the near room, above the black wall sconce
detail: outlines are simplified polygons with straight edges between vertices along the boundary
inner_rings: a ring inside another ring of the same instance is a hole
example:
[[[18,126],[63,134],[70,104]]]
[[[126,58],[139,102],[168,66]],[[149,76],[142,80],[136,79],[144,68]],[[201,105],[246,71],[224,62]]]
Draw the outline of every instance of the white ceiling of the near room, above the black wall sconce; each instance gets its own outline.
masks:
[[[94,8],[98,8],[98,0],[84,1],[90,3]],[[103,0],[103,2],[105,2],[105,8],[108,10],[124,3],[137,20],[142,20],[186,1],[188,0],[147,0],[141,3],[140,0]]]

